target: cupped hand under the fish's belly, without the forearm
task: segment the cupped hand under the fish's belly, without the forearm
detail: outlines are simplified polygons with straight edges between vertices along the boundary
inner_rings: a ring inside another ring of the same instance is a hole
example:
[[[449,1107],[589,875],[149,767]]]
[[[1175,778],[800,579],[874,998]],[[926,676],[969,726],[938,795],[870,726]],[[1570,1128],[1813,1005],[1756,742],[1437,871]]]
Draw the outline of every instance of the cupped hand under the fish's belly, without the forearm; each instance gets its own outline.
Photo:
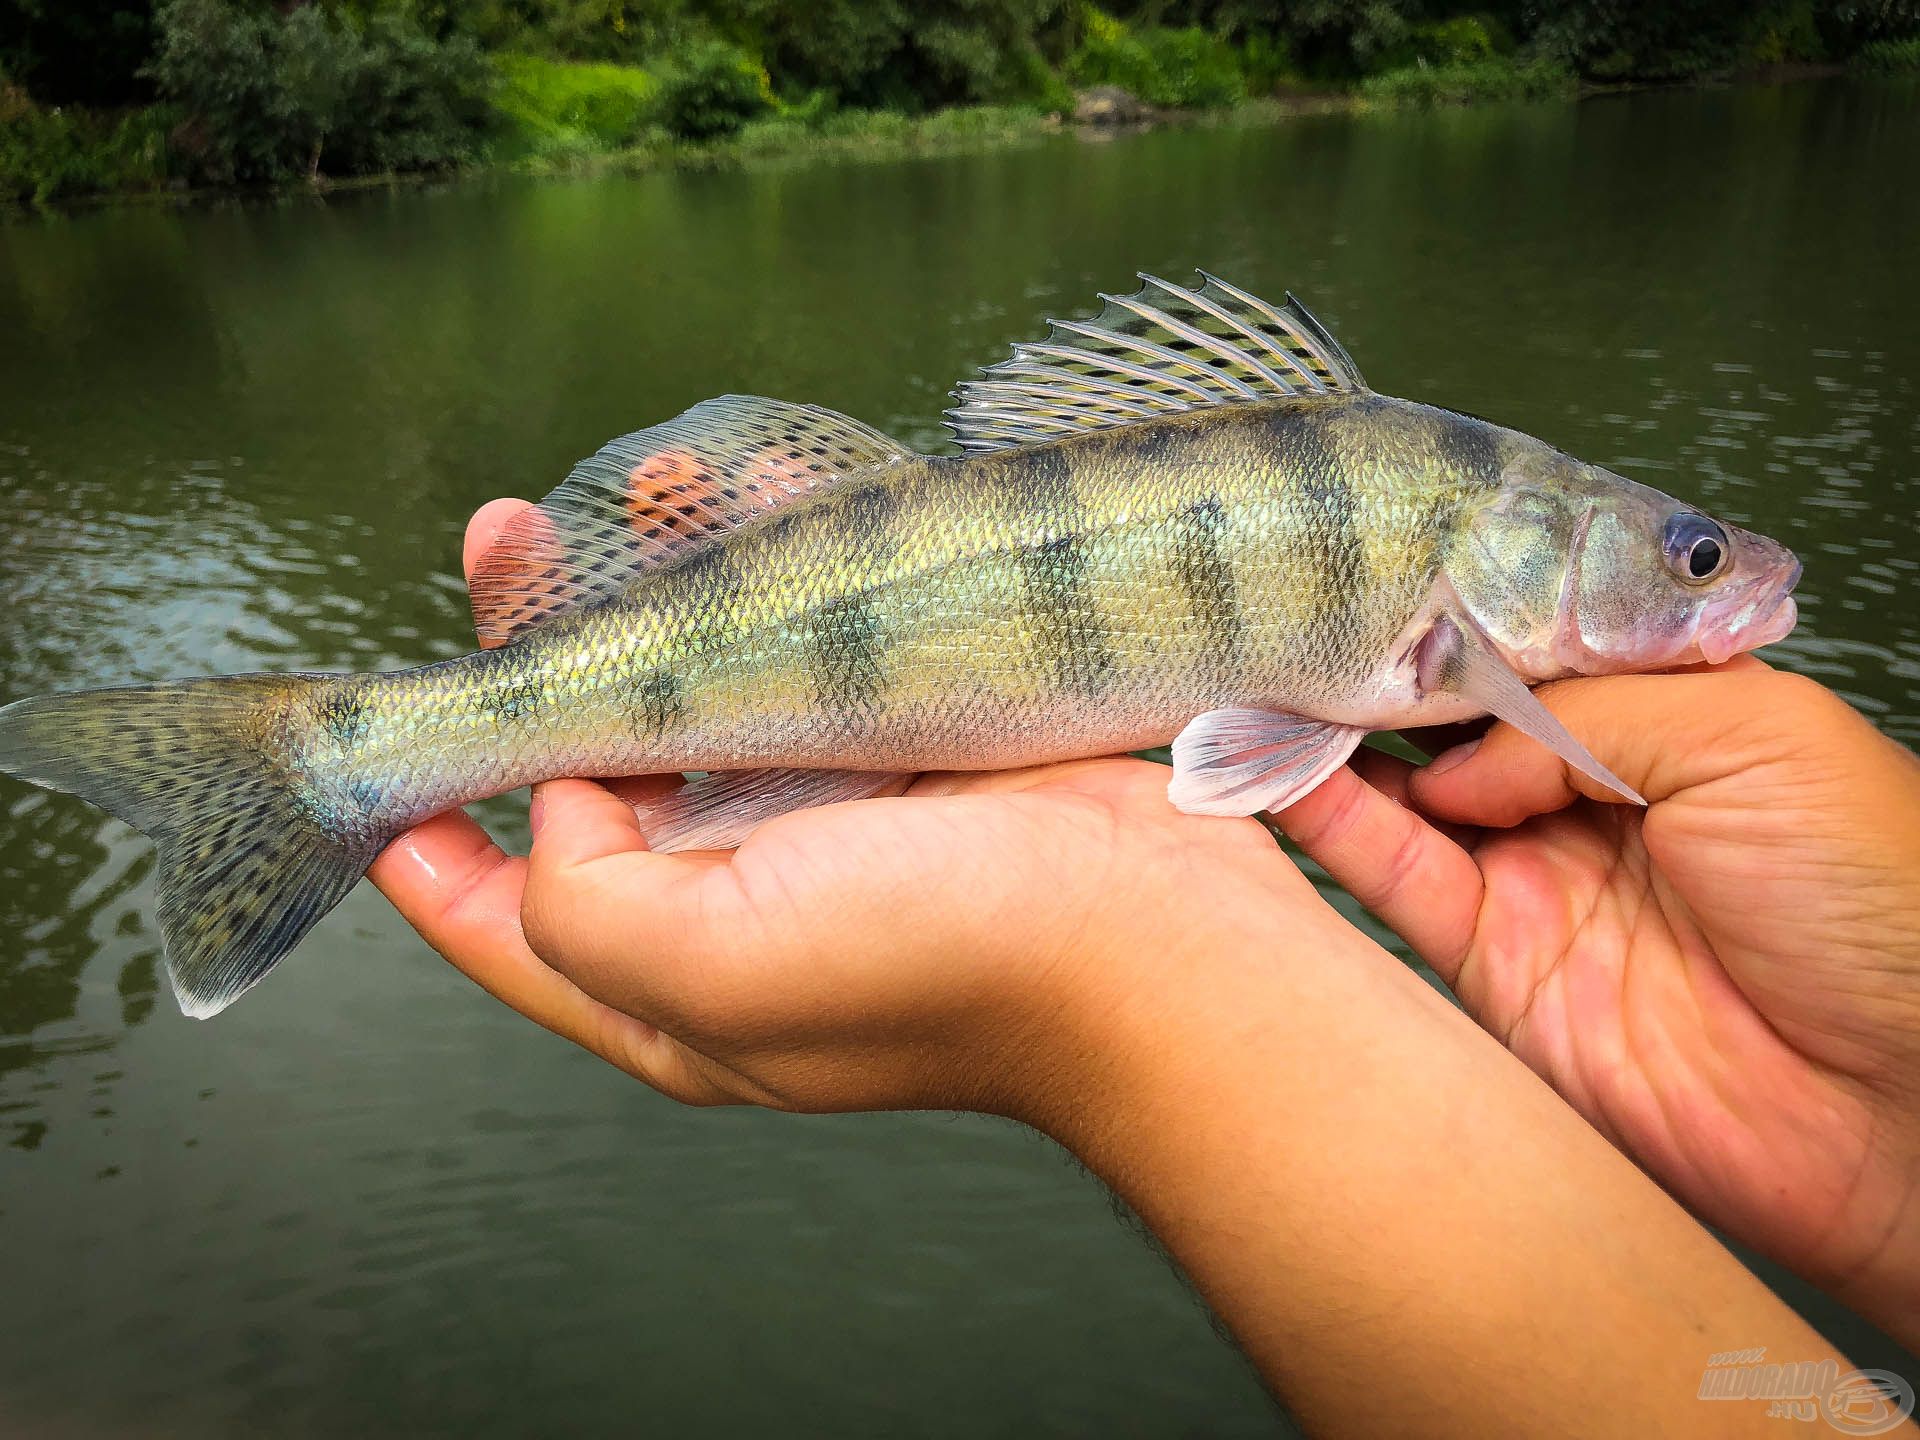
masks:
[[[474,518],[468,572],[518,507]],[[371,874],[482,987],[674,1098],[1043,1129],[1098,1085],[1075,1025],[1127,985],[1179,985],[1286,906],[1342,927],[1260,824],[1175,812],[1142,760],[925,776],[653,854],[632,803],[678,780],[549,781],[528,858],[453,812]]]

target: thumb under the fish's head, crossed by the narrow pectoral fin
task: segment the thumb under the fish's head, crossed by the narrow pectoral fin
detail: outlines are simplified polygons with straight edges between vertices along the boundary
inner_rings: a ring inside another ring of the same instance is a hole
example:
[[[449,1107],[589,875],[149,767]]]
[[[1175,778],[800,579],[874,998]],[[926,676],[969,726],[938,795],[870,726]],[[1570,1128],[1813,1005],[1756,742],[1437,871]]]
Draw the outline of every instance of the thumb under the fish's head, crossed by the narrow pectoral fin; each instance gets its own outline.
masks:
[[[1807,733],[1809,680],[1741,657],[1680,674],[1603,676],[1542,685],[1540,697],[1567,730],[1651,804],[1722,780],[1799,747]],[[1619,803],[1513,726],[1442,753],[1407,781],[1413,804],[1467,826],[1517,826],[1578,799]]]

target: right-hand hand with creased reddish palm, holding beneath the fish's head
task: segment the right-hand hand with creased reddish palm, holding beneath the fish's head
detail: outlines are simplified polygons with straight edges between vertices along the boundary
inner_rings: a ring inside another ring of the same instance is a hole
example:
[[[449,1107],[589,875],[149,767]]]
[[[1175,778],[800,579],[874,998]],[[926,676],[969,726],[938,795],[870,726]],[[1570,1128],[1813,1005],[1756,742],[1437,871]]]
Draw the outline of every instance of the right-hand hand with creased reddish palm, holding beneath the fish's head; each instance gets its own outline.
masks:
[[[1494,726],[1279,816],[1695,1213],[1920,1338],[1920,762],[1743,659],[1538,691],[1647,799]]]

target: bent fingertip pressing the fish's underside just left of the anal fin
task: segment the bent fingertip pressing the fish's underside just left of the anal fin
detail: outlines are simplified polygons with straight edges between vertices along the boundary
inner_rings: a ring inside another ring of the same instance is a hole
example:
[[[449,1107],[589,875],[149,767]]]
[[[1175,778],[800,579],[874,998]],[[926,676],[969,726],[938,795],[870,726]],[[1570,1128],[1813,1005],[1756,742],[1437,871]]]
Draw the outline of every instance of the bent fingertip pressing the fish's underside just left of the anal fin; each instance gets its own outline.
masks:
[[[534,787],[520,924],[547,966],[595,1000],[685,1033],[714,996],[705,876],[724,854],[653,854],[634,808],[601,785]]]

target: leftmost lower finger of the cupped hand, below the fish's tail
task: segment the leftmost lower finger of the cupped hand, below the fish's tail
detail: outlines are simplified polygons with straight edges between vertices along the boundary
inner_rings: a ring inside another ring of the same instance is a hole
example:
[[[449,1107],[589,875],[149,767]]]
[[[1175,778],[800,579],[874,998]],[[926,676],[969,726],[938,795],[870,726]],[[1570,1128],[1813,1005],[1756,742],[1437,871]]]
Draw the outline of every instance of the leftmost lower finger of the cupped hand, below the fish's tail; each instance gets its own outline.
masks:
[[[428,945],[488,995],[668,1094],[682,1066],[653,1025],[599,1004],[555,973],[520,933],[526,860],[451,810],[396,839],[367,872]],[[701,1098],[680,1094],[680,1098]]]

